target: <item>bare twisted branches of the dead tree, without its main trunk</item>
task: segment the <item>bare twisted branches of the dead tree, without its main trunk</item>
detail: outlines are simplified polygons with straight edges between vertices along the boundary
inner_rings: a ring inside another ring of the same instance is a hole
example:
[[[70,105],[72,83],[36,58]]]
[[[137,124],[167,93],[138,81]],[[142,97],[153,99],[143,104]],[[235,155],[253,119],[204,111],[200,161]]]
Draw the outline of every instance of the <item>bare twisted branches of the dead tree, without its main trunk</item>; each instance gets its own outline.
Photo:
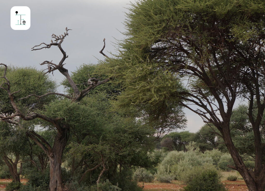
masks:
[[[40,50],[40,49],[43,49],[43,48],[45,48],[45,49],[46,48],[51,48],[51,46],[58,46],[58,48],[60,49],[61,53],[63,54],[63,58],[60,60],[60,62],[58,64],[55,64],[52,61],[47,61],[46,60],[46,61],[42,62],[40,65],[47,64],[47,69],[45,69],[47,71],[44,74],[53,72],[53,71],[58,69],[59,72],[61,74],[63,74],[67,78],[67,81],[69,82],[70,86],[72,87],[72,89],[74,91],[73,96],[71,97],[69,95],[56,93],[56,92],[47,92],[46,94],[40,95],[40,96],[35,95],[35,94],[30,94],[30,95],[28,95],[26,97],[23,97],[23,98],[20,98],[18,100],[27,99],[30,96],[35,96],[38,99],[40,99],[40,98],[45,97],[47,95],[54,94],[54,95],[60,95],[60,96],[67,97],[68,99],[71,99],[73,101],[80,101],[93,88],[95,88],[96,86],[101,85],[101,84],[106,83],[106,82],[111,80],[110,78],[108,78],[108,79],[105,79],[105,80],[102,80],[102,81],[99,81],[99,82],[96,81],[96,83],[88,84],[88,87],[85,88],[84,90],[82,90],[81,92],[78,90],[77,85],[76,85],[76,83],[74,83],[74,81],[70,77],[70,75],[68,73],[68,70],[63,67],[65,65],[64,61],[65,61],[66,58],[68,58],[68,55],[66,55],[66,52],[61,47],[61,43],[63,42],[64,38],[66,36],[68,36],[68,31],[69,30],[71,30],[71,29],[67,29],[67,27],[66,27],[65,28],[66,32],[64,32],[64,34],[59,35],[59,36],[57,36],[55,34],[52,34],[51,35],[52,36],[52,40],[51,40],[50,44],[47,44],[47,43],[43,42],[43,43],[41,43],[39,45],[33,46],[32,50]],[[43,46],[40,47],[41,45],[43,45]],[[101,52],[101,54],[103,54],[105,57],[108,58],[108,56],[105,55],[102,52],[104,50],[104,48],[105,48],[105,39],[104,39],[103,49],[100,52]],[[62,119],[63,118],[54,118],[53,119],[53,118],[47,117],[47,116],[39,114],[39,113],[32,113],[32,114],[28,114],[28,115],[25,115],[24,113],[22,113],[20,111],[20,109],[18,108],[18,106],[16,105],[15,99],[14,99],[14,94],[18,93],[20,90],[19,91],[15,91],[15,92],[10,92],[10,81],[6,77],[7,65],[3,64],[3,63],[0,63],[0,65],[5,67],[3,76],[0,77],[0,78],[4,78],[5,80],[0,85],[0,88],[7,91],[8,97],[9,97],[9,99],[11,101],[11,104],[12,104],[12,107],[14,108],[14,113],[11,116],[5,116],[5,115],[0,114],[0,120],[8,122],[10,124],[18,125],[19,122],[14,120],[15,117],[20,117],[23,120],[33,120],[33,119],[36,119],[36,118],[40,118],[42,120],[45,120],[45,121],[50,122],[51,124],[53,124],[56,127],[56,129],[58,130],[59,133],[62,132],[64,128],[68,128],[67,125],[62,123]],[[43,70],[43,71],[45,71],[45,70]],[[48,153],[51,153],[51,151],[52,151],[51,146],[48,145],[48,143],[45,141],[45,139],[43,139],[40,135],[38,135],[34,131],[28,131],[27,135],[30,138],[32,138],[47,153],[47,155],[48,155]]]

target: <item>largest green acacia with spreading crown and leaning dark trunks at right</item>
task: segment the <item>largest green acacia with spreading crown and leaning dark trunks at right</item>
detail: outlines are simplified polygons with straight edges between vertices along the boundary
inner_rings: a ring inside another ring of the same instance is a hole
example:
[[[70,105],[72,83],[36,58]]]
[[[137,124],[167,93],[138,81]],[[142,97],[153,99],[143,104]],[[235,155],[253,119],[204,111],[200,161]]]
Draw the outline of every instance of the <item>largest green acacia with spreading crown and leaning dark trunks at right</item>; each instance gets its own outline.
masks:
[[[213,124],[249,190],[264,190],[264,2],[141,0],[131,5],[126,38],[104,73],[123,82],[120,106],[176,102]],[[249,101],[255,168],[248,169],[230,130],[235,100]],[[254,107],[256,103],[256,107]]]

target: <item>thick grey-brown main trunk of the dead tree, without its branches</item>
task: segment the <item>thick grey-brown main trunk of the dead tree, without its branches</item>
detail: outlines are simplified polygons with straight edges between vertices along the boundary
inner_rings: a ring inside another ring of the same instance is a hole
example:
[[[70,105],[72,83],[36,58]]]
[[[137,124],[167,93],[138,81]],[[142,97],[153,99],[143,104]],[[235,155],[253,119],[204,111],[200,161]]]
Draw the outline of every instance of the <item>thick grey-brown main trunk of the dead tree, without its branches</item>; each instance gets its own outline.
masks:
[[[58,131],[54,145],[52,148],[52,153],[49,155],[50,160],[50,191],[62,191],[62,175],[61,175],[61,163],[64,148],[68,141],[68,129],[62,129],[62,131]]]

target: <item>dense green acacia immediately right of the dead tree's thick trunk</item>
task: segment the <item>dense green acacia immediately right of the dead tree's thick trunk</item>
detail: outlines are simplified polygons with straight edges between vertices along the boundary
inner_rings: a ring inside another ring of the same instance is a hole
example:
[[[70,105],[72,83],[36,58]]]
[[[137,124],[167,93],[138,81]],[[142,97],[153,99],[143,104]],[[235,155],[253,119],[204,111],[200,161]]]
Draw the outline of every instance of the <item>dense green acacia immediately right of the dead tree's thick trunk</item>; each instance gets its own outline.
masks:
[[[71,77],[80,90],[85,87],[89,75],[106,77],[96,74],[97,67],[96,64],[83,64],[73,72]],[[73,93],[68,81],[63,81],[63,85],[68,94]],[[81,105],[85,101],[87,112],[84,113],[89,113],[89,118],[84,117],[86,125],[72,126],[66,158],[73,178],[81,185],[108,179],[124,190],[133,189],[130,185],[136,188],[136,184],[131,182],[130,168],[152,165],[147,153],[154,146],[154,129],[112,109],[112,101],[122,91],[119,83],[106,83],[78,103]],[[49,107],[48,113],[54,111],[54,107]]]

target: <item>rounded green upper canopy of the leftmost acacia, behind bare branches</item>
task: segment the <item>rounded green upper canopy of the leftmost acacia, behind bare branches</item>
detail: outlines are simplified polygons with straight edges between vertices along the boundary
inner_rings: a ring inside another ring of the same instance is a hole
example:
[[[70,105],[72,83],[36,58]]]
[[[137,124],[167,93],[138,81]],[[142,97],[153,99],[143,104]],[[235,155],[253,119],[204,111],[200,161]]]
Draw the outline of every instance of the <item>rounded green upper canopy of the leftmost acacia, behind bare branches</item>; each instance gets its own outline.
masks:
[[[1,76],[3,75],[3,67],[0,67]],[[19,98],[26,97],[29,94],[43,95],[47,92],[54,92],[56,89],[56,83],[52,81],[47,75],[43,76],[41,71],[38,71],[32,67],[8,67],[6,77],[10,81],[10,91],[18,93],[14,94],[14,99],[16,100],[17,106],[19,106],[20,111],[25,113],[34,111],[35,109],[40,109],[44,104],[48,103],[50,100],[54,99],[54,95],[45,96],[40,99],[31,96],[27,99],[18,100]],[[0,80],[2,83],[4,79]],[[0,90],[0,103],[1,113],[11,114],[14,111],[8,94],[5,90]]]

